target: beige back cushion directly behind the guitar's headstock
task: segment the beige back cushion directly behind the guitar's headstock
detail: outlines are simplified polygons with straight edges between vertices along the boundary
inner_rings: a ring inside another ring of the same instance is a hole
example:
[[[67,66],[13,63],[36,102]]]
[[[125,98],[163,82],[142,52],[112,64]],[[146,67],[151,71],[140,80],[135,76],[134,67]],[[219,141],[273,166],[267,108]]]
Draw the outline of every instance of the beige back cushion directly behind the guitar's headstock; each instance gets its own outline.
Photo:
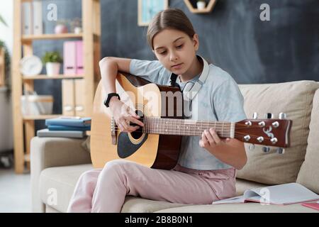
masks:
[[[313,95],[318,88],[319,84],[313,81],[240,85],[247,118],[252,118],[254,112],[259,114],[259,118],[264,118],[266,113],[278,118],[283,112],[293,124],[291,147],[286,148],[284,155],[277,155],[274,147],[270,147],[270,153],[263,153],[262,145],[249,150],[245,143],[248,160],[245,167],[237,172],[238,178],[263,184],[296,182],[306,154]]]

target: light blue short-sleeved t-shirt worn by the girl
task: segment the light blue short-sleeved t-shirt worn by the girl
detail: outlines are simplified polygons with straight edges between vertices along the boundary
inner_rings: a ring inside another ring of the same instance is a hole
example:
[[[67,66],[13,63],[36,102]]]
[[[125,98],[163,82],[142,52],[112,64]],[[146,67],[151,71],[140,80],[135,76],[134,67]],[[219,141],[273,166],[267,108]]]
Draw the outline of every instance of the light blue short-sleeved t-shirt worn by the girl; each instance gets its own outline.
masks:
[[[172,72],[169,72],[159,61],[132,60],[130,73],[148,81],[169,85]],[[196,82],[199,75],[191,79]],[[186,82],[177,78],[177,83],[184,89]],[[227,72],[209,65],[209,74],[198,94],[191,101],[192,120],[230,121],[246,119],[243,109],[244,98],[237,83]],[[179,154],[179,165],[195,170],[221,170],[231,168],[218,160],[214,155],[199,145],[200,136],[183,136]]]

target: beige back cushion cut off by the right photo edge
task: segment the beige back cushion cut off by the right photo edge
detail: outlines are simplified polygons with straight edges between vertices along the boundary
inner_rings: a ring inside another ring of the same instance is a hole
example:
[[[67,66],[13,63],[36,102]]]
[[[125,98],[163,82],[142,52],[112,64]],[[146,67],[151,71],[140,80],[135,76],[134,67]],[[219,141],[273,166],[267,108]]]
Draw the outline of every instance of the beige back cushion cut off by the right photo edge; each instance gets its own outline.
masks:
[[[319,194],[319,89],[313,97],[310,131],[305,161],[301,165],[297,182]]]

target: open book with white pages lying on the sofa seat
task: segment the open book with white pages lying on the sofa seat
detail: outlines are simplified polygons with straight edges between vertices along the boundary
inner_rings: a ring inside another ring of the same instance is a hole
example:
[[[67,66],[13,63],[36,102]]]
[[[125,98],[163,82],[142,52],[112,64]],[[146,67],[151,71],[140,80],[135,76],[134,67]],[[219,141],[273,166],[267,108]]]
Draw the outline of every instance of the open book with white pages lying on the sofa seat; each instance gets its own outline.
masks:
[[[279,184],[269,187],[247,189],[242,196],[213,201],[213,204],[257,202],[261,204],[297,204],[319,199],[319,195],[298,183]]]

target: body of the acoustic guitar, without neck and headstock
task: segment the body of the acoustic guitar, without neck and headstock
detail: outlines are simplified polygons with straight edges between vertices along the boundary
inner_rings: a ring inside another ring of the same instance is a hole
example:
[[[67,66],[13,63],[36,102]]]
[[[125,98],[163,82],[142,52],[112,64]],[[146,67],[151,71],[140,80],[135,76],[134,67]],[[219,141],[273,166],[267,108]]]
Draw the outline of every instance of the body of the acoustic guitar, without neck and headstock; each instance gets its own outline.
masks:
[[[119,73],[116,79],[116,91],[121,101],[135,109],[139,116],[183,118],[178,114],[182,113],[183,101],[174,99],[173,115],[168,114],[169,110],[172,111],[172,103],[164,101],[167,100],[167,92],[181,94],[179,88],[153,84],[124,73]],[[91,122],[91,160],[94,167],[101,168],[108,161],[125,159],[152,168],[174,168],[179,158],[182,136],[147,134],[142,131],[121,132],[113,121],[111,111],[103,104],[105,99],[106,92],[100,82],[94,97]]]

